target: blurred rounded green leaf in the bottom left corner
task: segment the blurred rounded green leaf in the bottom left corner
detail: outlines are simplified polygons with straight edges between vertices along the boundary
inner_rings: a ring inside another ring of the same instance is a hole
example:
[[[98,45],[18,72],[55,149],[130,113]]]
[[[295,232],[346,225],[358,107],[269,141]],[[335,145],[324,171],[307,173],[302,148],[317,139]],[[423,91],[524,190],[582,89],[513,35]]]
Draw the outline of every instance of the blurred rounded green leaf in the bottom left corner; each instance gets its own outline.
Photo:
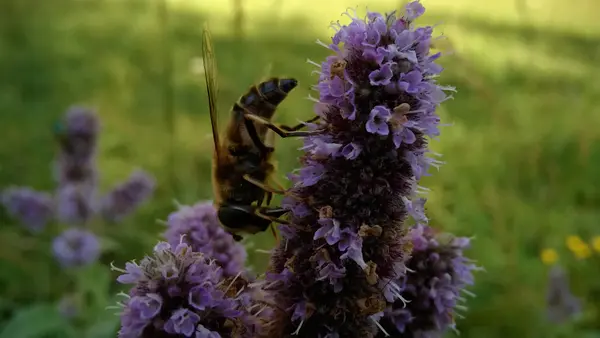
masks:
[[[17,311],[0,332],[0,338],[37,338],[68,330],[69,324],[56,306],[37,304]]]

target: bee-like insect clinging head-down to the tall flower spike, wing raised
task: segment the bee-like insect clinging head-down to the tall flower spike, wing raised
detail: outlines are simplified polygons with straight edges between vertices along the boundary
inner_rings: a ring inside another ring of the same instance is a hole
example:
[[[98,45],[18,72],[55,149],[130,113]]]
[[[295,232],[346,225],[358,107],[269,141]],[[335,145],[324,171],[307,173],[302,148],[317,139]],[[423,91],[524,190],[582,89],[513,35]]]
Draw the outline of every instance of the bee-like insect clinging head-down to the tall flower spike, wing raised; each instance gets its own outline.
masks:
[[[215,147],[212,162],[214,204],[221,226],[240,241],[243,238],[240,234],[266,231],[273,222],[287,224],[279,217],[288,210],[269,206],[273,194],[286,192],[266,183],[274,172],[271,157],[275,150],[265,144],[267,134],[274,132],[283,138],[314,134],[315,131],[300,129],[305,123],[316,121],[318,116],[292,127],[271,122],[277,106],[298,82],[293,78],[270,78],[252,86],[240,97],[231,109],[225,131],[219,133],[217,67],[207,27],[202,34],[202,56]],[[271,231],[276,237],[273,227]]]

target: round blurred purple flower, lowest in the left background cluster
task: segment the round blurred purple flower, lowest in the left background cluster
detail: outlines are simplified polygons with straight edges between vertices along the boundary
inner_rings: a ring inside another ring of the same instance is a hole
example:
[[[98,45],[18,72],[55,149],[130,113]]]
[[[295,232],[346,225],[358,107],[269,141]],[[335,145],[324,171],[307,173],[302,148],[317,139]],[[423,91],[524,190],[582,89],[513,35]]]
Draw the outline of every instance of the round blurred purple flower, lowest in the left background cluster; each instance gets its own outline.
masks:
[[[80,267],[98,259],[100,242],[96,235],[87,230],[71,228],[54,239],[52,250],[63,267]]]

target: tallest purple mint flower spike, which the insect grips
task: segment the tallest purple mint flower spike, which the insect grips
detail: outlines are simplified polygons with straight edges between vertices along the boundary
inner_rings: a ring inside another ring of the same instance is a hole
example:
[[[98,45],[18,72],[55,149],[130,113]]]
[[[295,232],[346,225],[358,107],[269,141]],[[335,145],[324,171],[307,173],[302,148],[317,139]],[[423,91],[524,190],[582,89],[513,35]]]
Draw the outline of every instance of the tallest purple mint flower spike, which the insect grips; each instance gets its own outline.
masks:
[[[322,132],[304,139],[284,199],[291,224],[263,286],[280,309],[268,337],[387,335],[385,309],[407,302],[406,218],[420,212],[418,180],[439,164],[425,137],[439,134],[435,110],[453,90],[435,80],[432,27],[412,25],[423,12],[412,2],[398,19],[345,13],[351,22],[333,25],[332,42],[318,41],[333,52],[315,86],[321,120],[310,128]]]

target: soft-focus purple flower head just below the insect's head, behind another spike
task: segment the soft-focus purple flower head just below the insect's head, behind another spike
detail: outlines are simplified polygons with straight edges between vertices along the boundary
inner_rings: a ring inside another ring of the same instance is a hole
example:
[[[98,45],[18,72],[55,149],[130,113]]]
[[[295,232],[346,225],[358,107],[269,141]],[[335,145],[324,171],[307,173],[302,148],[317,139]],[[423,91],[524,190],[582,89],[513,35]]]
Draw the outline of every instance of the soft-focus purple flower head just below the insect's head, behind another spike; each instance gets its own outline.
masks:
[[[195,252],[214,258],[225,277],[244,270],[246,249],[221,227],[212,202],[182,206],[169,215],[167,223],[164,237],[171,246],[183,241]]]

